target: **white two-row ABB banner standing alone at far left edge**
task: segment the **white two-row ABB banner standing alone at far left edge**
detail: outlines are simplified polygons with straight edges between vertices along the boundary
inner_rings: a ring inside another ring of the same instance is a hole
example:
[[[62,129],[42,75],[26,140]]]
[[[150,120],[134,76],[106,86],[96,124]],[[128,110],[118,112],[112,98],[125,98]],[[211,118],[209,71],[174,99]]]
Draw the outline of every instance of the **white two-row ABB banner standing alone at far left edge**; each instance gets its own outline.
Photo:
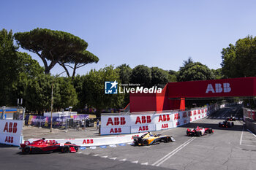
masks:
[[[20,145],[22,120],[0,120],[0,143]]]

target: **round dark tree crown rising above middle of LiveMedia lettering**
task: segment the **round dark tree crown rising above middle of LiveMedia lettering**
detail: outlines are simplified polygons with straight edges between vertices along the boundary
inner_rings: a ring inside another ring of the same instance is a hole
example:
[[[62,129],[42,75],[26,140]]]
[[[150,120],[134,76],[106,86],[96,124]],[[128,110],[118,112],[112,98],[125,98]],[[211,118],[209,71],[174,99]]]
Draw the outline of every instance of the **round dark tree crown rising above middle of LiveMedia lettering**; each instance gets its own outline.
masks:
[[[148,66],[138,65],[132,69],[130,82],[138,83],[146,88],[151,87],[151,69]]]

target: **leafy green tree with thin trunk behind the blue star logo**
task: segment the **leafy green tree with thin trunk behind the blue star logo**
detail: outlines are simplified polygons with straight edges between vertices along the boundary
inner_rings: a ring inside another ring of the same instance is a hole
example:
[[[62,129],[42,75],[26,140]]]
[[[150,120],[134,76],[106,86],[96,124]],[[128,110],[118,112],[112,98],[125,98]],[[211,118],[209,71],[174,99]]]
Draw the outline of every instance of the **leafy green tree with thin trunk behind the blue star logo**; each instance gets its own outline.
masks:
[[[105,94],[105,81],[120,82],[119,75],[113,69],[113,66],[107,66],[99,71],[91,70],[86,74],[83,82],[83,93],[86,95],[83,98],[84,103],[89,107],[97,109],[97,117],[100,117],[102,109],[120,108],[124,99],[123,94]]]

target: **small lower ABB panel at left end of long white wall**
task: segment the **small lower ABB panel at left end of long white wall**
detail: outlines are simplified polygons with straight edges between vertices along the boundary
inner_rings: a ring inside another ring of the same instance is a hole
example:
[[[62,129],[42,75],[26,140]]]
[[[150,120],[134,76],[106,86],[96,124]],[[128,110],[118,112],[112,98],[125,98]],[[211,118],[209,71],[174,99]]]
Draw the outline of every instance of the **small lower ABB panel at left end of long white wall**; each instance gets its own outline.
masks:
[[[101,127],[100,134],[131,134],[130,126]]]

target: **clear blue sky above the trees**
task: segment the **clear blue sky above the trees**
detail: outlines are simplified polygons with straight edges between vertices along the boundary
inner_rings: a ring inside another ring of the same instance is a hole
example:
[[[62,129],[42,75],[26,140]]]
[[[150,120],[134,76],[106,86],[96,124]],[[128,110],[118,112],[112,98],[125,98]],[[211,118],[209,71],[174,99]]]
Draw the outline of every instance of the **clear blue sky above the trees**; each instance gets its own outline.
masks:
[[[99,62],[83,66],[78,74],[122,63],[178,71],[189,57],[218,69],[222,48],[256,35],[255,4],[236,0],[10,0],[1,1],[0,28],[13,32],[49,28],[86,40]],[[30,54],[43,66],[37,55]],[[51,73],[63,71],[56,65]]]

